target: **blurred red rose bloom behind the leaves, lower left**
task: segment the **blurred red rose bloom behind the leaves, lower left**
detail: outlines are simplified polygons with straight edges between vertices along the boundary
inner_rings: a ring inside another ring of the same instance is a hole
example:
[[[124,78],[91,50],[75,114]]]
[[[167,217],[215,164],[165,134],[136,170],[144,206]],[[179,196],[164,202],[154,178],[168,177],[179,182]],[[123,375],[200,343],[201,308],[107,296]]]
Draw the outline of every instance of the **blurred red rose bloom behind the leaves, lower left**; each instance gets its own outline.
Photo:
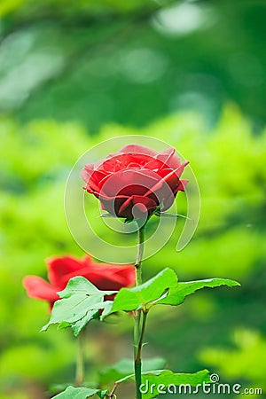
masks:
[[[50,283],[38,276],[27,276],[23,286],[31,298],[50,302],[50,309],[59,300],[59,291],[66,288],[70,278],[82,276],[99,290],[118,291],[124,286],[133,286],[135,270],[131,265],[96,263],[85,255],[82,259],[66,255],[46,260]]]

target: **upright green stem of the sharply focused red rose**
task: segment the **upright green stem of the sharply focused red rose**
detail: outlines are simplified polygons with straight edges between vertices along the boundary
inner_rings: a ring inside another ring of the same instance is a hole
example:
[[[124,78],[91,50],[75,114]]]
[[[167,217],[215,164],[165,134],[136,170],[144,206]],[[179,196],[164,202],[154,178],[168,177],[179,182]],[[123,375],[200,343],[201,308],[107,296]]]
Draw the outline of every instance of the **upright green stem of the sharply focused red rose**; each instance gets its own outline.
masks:
[[[136,286],[142,284],[142,270],[141,270],[141,262],[144,252],[144,243],[145,243],[145,224],[139,228],[137,231],[137,259],[135,263],[135,272],[136,272]],[[145,332],[145,318],[143,316],[142,328],[140,331],[140,322],[141,322],[141,310],[137,310],[135,312],[135,326],[134,326],[134,368],[135,368],[135,383],[136,383],[136,398],[142,399],[142,393],[140,391],[141,386],[141,348],[143,342],[143,336]]]

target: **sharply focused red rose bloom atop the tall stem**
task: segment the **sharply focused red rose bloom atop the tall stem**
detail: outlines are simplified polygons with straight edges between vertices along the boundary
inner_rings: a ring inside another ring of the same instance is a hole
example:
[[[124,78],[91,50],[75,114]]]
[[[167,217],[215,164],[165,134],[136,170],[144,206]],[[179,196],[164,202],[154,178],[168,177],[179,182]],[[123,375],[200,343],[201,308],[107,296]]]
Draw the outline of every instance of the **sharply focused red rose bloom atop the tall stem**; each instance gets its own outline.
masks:
[[[158,153],[143,145],[127,145],[105,160],[82,169],[83,187],[94,194],[103,209],[128,220],[163,212],[184,192],[187,180],[180,176],[181,163],[175,148]]]

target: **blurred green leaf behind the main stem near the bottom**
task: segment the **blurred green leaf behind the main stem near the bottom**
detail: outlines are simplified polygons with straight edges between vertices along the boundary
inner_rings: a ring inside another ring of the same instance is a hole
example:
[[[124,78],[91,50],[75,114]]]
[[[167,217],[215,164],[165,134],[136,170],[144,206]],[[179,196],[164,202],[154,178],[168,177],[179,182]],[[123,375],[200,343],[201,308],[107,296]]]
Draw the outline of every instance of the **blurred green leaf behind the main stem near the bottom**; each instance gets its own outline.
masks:
[[[161,357],[153,357],[143,361],[142,370],[148,372],[149,370],[156,370],[165,367],[166,361]],[[117,379],[122,379],[127,375],[134,373],[133,359],[121,359],[119,362],[106,367],[100,372],[100,384],[109,384]]]

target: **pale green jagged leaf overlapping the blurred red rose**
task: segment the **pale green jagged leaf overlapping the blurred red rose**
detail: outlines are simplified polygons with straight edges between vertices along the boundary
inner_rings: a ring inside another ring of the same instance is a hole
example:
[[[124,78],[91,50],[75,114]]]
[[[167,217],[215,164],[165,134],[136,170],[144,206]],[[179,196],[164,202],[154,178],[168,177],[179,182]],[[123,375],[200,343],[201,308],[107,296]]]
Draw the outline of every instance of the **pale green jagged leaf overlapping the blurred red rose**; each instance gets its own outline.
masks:
[[[41,331],[46,331],[50,325],[59,324],[59,328],[71,326],[77,336],[90,320],[98,317],[100,309],[104,309],[106,316],[106,309],[110,309],[110,302],[113,304],[113,301],[104,299],[111,293],[116,291],[100,291],[86,278],[71,278],[65,290],[59,293],[62,299],[54,303],[50,321]]]

